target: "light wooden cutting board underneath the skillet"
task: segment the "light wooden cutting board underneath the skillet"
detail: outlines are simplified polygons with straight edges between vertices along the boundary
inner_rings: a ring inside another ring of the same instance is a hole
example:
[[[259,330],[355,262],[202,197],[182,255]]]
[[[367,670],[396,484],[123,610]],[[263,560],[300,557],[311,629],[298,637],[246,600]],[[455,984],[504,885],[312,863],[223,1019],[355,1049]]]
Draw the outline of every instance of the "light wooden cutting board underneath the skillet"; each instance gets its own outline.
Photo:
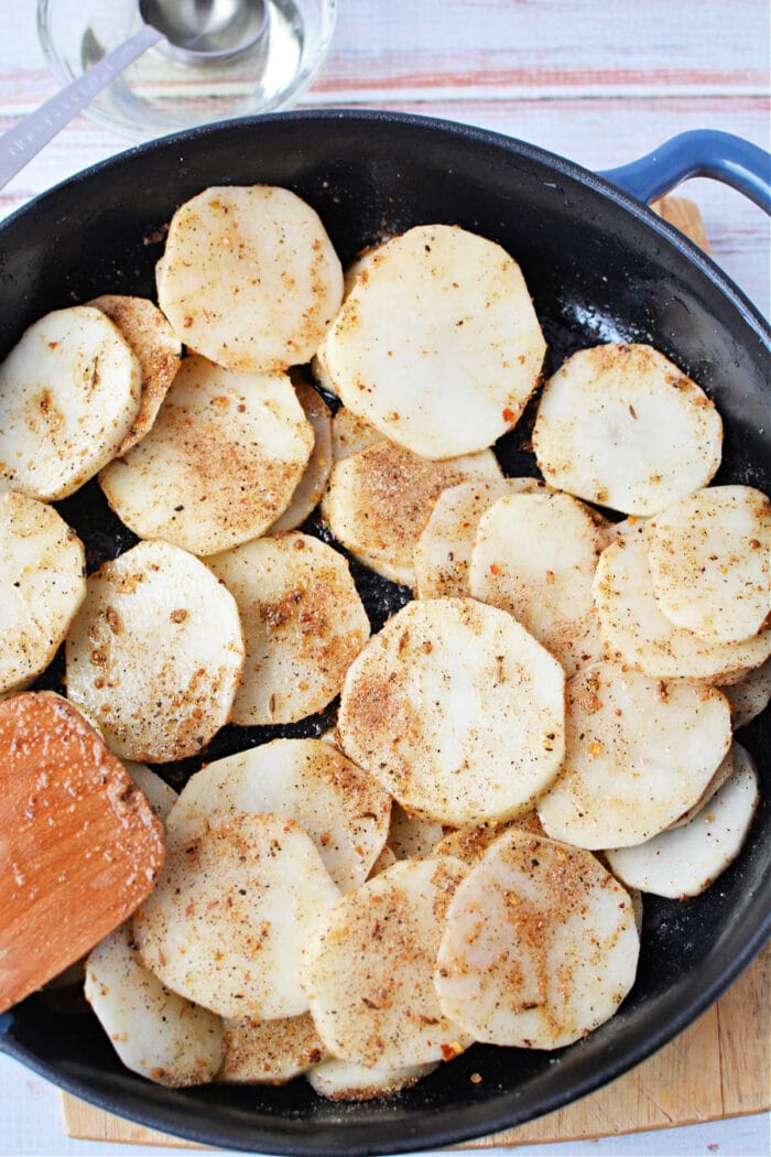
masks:
[[[694,201],[667,197],[653,207],[670,224],[709,249],[704,222]],[[631,1073],[538,1121],[460,1148],[617,1136],[742,1117],[770,1107],[771,945],[700,1019]],[[104,1113],[66,1093],[62,1117],[71,1137],[200,1148]]]

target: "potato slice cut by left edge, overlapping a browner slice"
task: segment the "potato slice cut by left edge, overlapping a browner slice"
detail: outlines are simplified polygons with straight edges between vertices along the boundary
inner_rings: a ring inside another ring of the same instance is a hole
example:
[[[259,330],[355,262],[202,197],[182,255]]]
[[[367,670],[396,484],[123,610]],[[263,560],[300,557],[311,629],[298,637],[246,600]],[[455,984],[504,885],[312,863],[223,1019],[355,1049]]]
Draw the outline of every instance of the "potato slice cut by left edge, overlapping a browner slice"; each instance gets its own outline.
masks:
[[[72,494],[118,454],[140,390],[139,361],[101,310],[46,314],[0,364],[0,488]]]

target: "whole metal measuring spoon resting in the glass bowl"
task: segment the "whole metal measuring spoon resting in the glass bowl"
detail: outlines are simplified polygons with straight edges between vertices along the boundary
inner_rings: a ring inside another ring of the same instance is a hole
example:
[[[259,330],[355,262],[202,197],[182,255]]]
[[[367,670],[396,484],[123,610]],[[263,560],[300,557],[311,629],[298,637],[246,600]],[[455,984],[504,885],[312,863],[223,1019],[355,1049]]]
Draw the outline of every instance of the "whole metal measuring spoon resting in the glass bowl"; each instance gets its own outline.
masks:
[[[251,47],[265,34],[265,0],[136,0],[142,27],[0,137],[0,189],[106,88],[124,68],[161,40],[191,64],[222,60]]]

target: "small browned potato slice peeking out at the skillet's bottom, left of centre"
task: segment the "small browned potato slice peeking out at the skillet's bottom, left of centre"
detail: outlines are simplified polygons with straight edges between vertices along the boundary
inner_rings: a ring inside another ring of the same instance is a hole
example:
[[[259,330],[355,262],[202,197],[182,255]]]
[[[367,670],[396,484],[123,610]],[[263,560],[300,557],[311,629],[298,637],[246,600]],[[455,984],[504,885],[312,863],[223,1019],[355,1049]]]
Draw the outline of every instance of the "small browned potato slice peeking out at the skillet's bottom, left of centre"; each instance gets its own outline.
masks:
[[[327,1055],[310,1012],[275,1020],[228,1019],[224,1046],[217,1081],[227,1084],[284,1084]]]

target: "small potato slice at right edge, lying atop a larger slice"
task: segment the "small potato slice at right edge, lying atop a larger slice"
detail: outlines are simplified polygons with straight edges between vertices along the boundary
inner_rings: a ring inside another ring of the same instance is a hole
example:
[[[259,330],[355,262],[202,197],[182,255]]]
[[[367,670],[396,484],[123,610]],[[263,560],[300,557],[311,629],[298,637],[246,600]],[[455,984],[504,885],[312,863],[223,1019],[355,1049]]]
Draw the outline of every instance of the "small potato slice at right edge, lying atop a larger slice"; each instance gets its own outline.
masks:
[[[653,592],[677,627],[717,642],[756,635],[771,611],[771,502],[711,486],[651,519]]]

